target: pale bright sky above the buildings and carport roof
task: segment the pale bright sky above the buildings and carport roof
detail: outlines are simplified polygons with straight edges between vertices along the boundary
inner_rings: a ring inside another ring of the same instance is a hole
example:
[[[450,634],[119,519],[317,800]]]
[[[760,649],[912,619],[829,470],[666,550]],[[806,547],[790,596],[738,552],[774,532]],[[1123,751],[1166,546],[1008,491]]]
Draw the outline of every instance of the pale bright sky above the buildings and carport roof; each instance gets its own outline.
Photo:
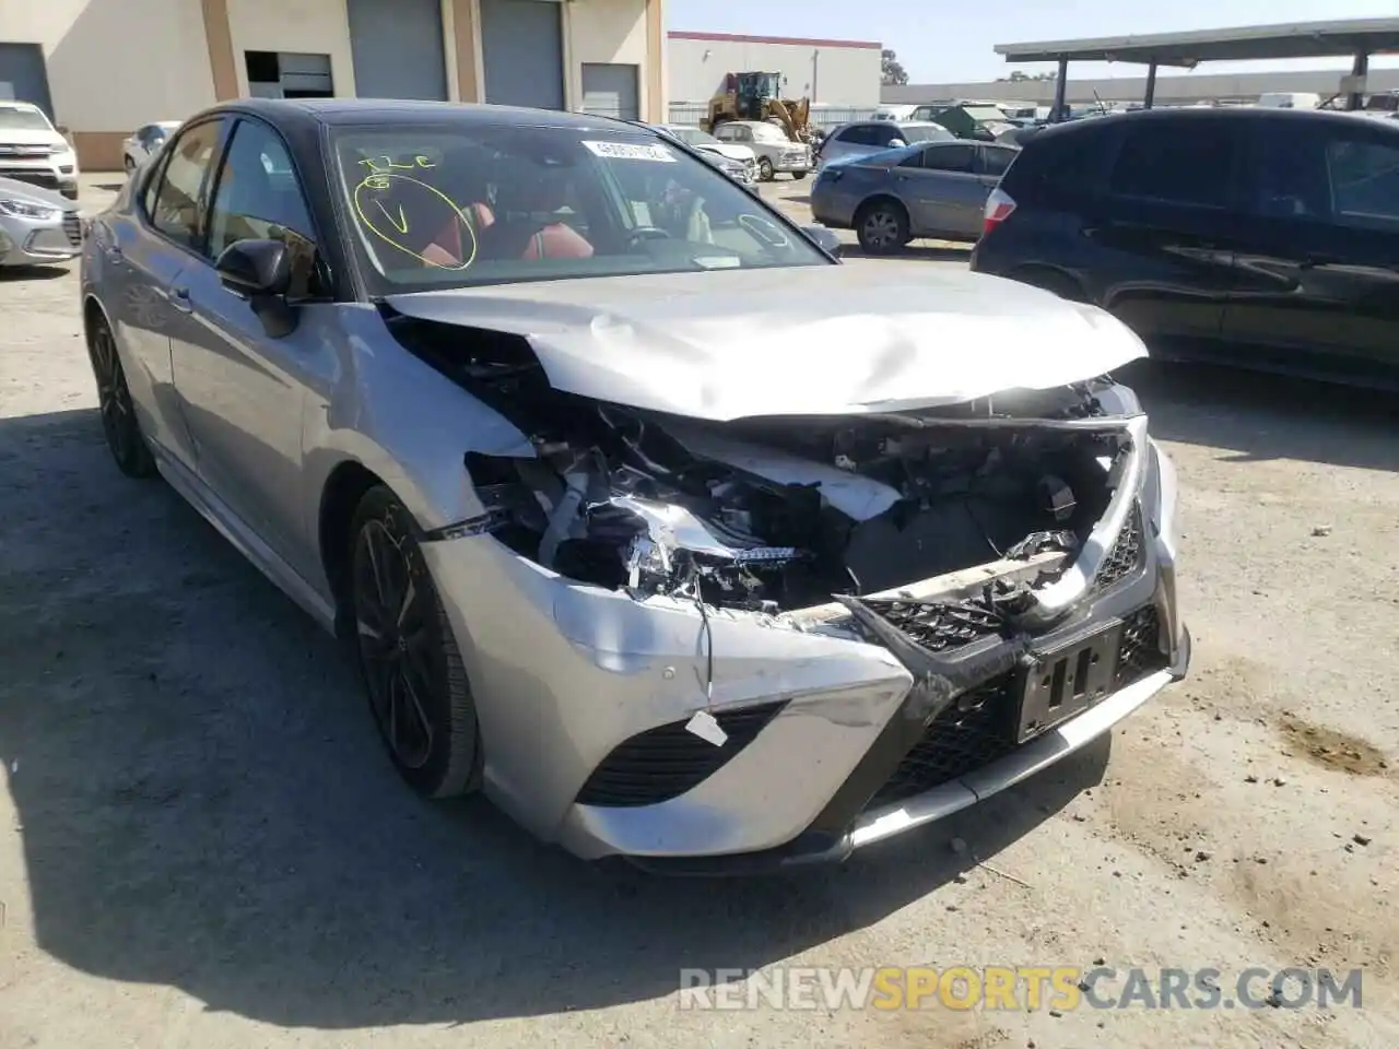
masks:
[[[816,36],[879,41],[893,48],[911,84],[956,84],[1004,77],[1052,66],[1009,66],[997,43],[1063,41],[1083,36],[1185,32],[1240,25],[1319,22],[1342,18],[1399,18],[1399,0],[666,0],[670,29],[758,36]],[[1399,56],[1375,57],[1372,69],[1396,66]],[[1210,73],[1269,69],[1349,70],[1349,59],[1272,63],[1210,63]],[[1163,70],[1172,76],[1175,70]],[[1074,77],[1140,77],[1137,66],[1081,63]]]

